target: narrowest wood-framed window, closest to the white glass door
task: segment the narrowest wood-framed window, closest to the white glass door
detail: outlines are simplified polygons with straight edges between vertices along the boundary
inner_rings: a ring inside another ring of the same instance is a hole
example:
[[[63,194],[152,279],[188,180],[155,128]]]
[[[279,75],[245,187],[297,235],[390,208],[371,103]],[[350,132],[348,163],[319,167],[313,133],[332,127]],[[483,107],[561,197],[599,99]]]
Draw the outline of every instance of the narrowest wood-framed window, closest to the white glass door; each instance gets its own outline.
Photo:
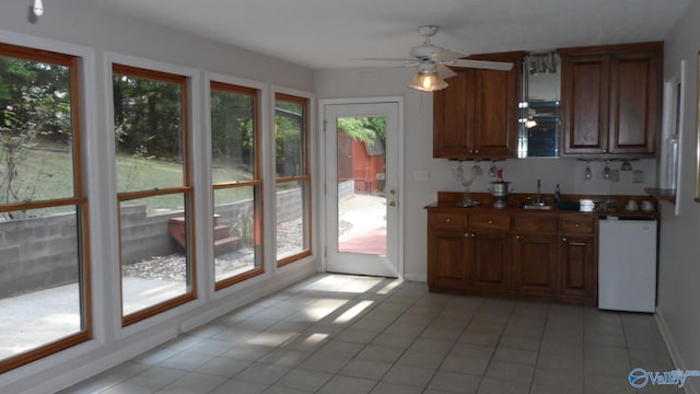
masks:
[[[275,96],[277,264],[311,255],[308,100]]]

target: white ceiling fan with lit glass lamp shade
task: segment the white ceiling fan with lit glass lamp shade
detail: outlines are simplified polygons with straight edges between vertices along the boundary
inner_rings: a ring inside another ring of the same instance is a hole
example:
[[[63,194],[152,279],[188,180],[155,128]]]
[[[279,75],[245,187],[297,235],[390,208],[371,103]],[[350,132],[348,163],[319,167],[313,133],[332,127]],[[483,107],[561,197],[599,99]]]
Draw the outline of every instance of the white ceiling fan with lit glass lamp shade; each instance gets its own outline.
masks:
[[[418,33],[423,36],[423,44],[411,48],[410,59],[384,59],[370,58],[368,60],[402,60],[406,63],[402,67],[416,67],[417,72],[409,83],[410,88],[433,92],[447,88],[444,80],[456,76],[447,66],[479,68],[487,70],[510,71],[513,68],[511,62],[487,61],[487,60],[469,60],[462,59],[467,54],[452,49],[445,49],[430,42],[430,38],[438,33],[440,26],[424,25],[418,27]]]

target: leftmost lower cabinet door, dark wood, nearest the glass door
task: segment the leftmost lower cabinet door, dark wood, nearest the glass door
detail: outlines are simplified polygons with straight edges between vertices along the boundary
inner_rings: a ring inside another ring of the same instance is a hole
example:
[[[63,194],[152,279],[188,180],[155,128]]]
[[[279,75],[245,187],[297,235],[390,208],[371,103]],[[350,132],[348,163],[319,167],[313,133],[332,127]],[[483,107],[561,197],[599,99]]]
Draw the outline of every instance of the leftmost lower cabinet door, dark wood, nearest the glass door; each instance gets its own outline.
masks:
[[[468,235],[468,234],[467,234]],[[428,285],[462,289],[465,285],[466,236],[462,231],[430,230],[428,239]]]

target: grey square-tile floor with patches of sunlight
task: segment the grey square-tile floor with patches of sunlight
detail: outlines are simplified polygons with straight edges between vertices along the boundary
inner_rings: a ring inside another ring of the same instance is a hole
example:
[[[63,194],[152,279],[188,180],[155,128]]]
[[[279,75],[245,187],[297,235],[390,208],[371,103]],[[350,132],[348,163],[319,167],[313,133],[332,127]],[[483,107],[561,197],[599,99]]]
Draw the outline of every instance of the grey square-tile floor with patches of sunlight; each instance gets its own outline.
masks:
[[[650,314],[319,275],[61,393],[634,393],[637,367],[673,369]]]

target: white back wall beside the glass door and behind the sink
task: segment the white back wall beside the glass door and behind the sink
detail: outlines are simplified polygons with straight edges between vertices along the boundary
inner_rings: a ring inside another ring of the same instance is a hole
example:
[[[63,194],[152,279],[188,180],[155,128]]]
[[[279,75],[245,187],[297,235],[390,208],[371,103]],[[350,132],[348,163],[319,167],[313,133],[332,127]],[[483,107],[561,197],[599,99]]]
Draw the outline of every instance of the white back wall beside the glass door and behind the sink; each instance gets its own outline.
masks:
[[[427,279],[427,213],[423,207],[434,202],[438,192],[462,192],[453,175],[458,165],[455,161],[432,158],[432,93],[419,92],[406,85],[412,77],[410,69],[395,69],[380,72],[366,70],[322,70],[315,73],[316,97],[347,99],[402,96],[405,97],[405,163],[401,193],[404,194],[404,267],[405,277],[410,280]],[[450,82],[450,80],[447,80]],[[319,109],[319,111],[323,111]],[[585,162],[573,159],[511,159],[497,162],[504,169],[504,177],[511,181],[515,193],[535,193],[537,178],[541,178],[542,193],[551,194],[557,183],[563,194],[622,194],[644,195],[644,187],[656,182],[656,161],[632,162],[634,170],[644,172],[644,182],[632,183],[632,173],[620,172],[620,182],[603,181],[604,162],[591,164],[594,179],[584,182]],[[618,170],[621,162],[610,167]],[[463,165],[472,165],[471,162]],[[490,162],[480,163],[487,176],[471,185],[471,192],[488,192]],[[429,181],[416,181],[416,170],[429,170]]]

